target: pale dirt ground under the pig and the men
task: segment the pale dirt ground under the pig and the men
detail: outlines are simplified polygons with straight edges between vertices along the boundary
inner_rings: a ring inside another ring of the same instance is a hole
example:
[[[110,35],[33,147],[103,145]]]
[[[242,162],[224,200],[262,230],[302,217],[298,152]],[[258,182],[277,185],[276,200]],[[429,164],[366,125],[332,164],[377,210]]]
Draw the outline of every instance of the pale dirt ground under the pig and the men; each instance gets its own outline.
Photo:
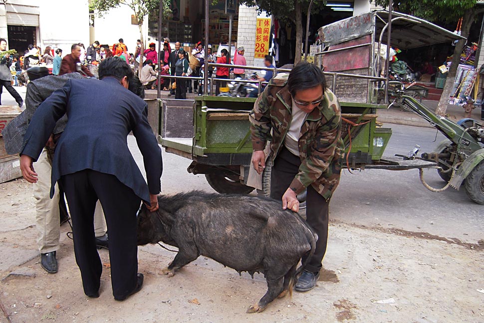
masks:
[[[484,323],[484,242],[331,221],[318,286],[245,314],[266,291],[262,275],[240,277],[204,257],[172,278],[159,275],[175,256],[139,248],[143,289],[112,297],[108,251],[100,298],[84,296],[72,240],[62,226],[59,272],[47,274],[35,243],[30,184],[0,184],[0,323],[32,322],[472,322]]]

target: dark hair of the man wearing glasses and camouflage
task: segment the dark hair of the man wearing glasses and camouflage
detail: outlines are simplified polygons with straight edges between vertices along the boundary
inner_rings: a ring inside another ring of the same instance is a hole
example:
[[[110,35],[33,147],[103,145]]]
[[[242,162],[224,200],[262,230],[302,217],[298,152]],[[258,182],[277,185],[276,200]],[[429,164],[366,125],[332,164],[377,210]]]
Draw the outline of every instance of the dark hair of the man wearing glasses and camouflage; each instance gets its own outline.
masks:
[[[287,86],[292,96],[297,91],[313,88],[321,85],[323,92],[326,90],[324,74],[316,65],[301,61],[289,72]]]

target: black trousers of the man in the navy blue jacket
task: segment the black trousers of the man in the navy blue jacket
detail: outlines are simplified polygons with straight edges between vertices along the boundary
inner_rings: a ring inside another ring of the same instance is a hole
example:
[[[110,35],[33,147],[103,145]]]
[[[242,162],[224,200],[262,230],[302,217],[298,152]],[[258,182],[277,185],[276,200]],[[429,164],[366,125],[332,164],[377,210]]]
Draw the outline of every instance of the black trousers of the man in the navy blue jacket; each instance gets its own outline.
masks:
[[[141,199],[116,176],[86,169],[60,178],[72,219],[74,253],[86,295],[99,291],[102,263],[94,241],[94,209],[99,199],[109,232],[113,296],[125,298],[137,284],[136,212]]]

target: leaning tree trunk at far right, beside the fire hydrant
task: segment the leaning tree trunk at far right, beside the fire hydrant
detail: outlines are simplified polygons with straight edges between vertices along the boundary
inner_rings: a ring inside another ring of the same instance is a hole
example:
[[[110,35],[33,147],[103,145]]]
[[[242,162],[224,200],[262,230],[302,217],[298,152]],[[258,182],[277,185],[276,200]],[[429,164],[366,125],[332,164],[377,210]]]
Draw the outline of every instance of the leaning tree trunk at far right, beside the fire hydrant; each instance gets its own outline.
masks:
[[[464,13],[464,17],[462,19],[462,27],[461,27],[461,35],[463,37],[469,36],[469,30],[471,29],[471,25],[476,17],[476,8],[471,8]],[[466,44],[466,39],[461,39],[457,42],[456,47],[454,48],[454,54],[452,55],[452,63],[447,72],[447,80],[446,84],[444,85],[444,91],[442,92],[442,96],[440,97],[439,104],[435,113],[437,115],[444,116],[447,110],[447,105],[449,104],[449,97],[453,95],[452,89],[454,87],[454,80],[456,78],[457,68],[459,67],[461,53],[464,49],[464,45]],[[477,57],[476,57],[477,58]],[[476,84],[475,86],[478,86]]]

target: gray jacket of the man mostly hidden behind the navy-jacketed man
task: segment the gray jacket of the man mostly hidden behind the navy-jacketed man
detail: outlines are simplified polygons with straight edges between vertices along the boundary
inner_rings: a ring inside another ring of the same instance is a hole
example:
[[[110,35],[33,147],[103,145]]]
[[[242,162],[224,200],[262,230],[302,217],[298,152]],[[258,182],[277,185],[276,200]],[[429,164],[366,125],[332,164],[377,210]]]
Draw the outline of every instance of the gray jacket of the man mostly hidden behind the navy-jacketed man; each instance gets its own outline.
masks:
[[[37,107],[52,94],[55,90],[62,88],[69,78],[85,78],[79,73],[68,73],[62,76],[49,75],[36,79],[27,84],[27,94],[25,96],[25,110],[15,119],[10,121],[5,129],[2,130],[5,150],[8,154],[18,154],[23,149],[23,137],[27,131],[28,124]],[[64,131],[67,123],[67,116],[61,117],[55,124],[53,133]]]

